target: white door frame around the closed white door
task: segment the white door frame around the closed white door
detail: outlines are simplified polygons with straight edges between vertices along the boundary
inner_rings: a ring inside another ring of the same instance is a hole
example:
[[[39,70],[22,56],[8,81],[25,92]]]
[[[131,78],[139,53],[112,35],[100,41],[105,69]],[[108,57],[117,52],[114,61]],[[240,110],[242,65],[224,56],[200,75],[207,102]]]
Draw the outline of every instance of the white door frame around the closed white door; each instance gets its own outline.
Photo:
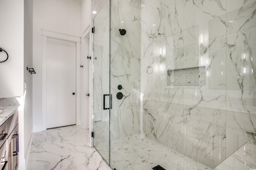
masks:
[[[42,29],[42,131],[46,130],[46,43],[47,38],[76,43],[76,125],[80,125],[80,50],[81,38]]]

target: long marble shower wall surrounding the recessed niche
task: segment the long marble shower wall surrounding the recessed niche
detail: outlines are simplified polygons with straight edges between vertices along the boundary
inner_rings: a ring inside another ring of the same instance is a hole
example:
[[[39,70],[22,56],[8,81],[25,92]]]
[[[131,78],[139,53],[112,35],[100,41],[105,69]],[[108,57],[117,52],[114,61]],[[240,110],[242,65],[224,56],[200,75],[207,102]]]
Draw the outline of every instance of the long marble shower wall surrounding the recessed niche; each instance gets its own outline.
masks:
[[[212,168],[256,144],[256,0],[141,0],[140,8],[146,136]],[[206,85],[167,86],[168,69],[201,66]]]

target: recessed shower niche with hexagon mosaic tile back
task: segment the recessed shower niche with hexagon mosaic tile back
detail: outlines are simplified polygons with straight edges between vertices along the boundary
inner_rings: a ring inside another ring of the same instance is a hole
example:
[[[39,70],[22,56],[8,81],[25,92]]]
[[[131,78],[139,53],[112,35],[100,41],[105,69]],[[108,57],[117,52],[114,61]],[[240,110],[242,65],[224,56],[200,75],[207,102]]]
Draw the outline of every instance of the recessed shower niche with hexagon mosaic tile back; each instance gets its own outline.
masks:
[[[168,69],[167,86],[205,85],[205,66],[185,69]]]

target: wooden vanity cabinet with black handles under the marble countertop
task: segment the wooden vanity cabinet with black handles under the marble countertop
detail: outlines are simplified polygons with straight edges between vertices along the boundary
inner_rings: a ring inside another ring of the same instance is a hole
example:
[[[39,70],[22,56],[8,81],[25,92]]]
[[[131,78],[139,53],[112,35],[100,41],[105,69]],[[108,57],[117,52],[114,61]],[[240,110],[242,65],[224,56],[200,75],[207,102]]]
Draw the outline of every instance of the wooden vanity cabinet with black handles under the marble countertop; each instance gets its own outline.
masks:
[[[0,170],[18,169],[18,111],[0,126]]]

